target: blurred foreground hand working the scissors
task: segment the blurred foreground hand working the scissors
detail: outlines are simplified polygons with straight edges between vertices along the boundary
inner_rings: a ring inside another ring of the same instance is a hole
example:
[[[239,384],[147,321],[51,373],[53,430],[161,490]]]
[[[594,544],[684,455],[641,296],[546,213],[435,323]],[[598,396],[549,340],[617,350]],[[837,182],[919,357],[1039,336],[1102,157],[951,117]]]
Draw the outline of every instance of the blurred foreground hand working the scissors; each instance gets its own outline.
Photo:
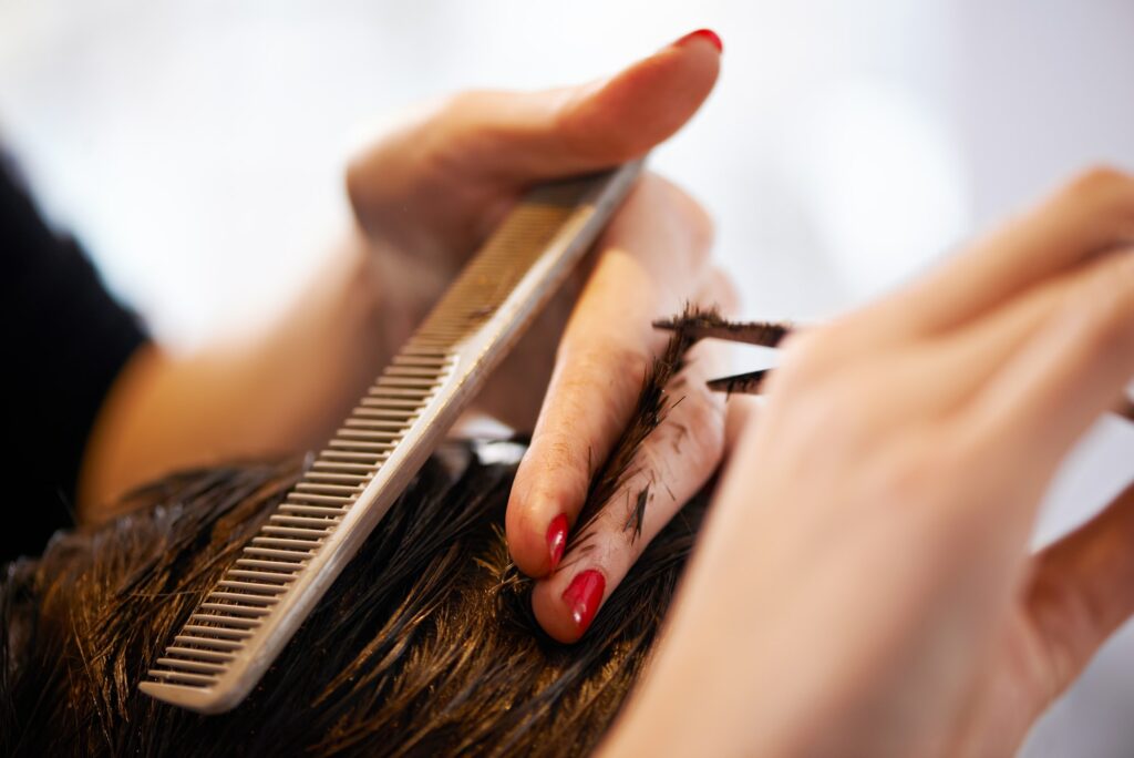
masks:
[[[1134,374],[1132,243],[1094,171],[792,340],[611,755],[1013,755],[1134,612],[1134,490],[1029,549]]]

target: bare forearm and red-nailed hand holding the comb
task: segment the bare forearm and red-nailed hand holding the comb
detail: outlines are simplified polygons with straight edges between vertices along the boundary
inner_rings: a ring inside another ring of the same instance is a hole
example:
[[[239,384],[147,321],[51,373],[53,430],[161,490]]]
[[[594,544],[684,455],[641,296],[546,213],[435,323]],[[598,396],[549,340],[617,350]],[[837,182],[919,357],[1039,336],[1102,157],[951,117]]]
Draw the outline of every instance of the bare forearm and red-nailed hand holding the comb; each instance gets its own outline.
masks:
[[[285,319],[191,355],[154,346],[129,362],[87,447],[81,519],[109,517],[117,496],[177,469],[322,444],[526,187],[643,155],[693,116],[719,66],[719,42],[694,34],[607,79],[463,93],[388,128],[347,171],[356,228]],[[585,628],[560,597],[572,574],[550,571],[549,522],[558,514],[574,521],[589,466],[629,419],[648,361],[666,339],[650,322],[687,302],[733,308],[731,285],[709,255],[711,237],[691,197],[644,176],[479,398],[479,410],[534,428],[508,538],[521,568],[542,578],[536,614],[560,640]],[[699,353],[695,389],[674,416],[694,433],[679,452],[653,443],[643,452],[669,490],[650,508],[643,539],[627,540],[606,520],[601,551],[585,563],[564,556],[576,571],[602,571],[606,596],[720,460],[723,401],[700,389],[720,354],[713,346]]]

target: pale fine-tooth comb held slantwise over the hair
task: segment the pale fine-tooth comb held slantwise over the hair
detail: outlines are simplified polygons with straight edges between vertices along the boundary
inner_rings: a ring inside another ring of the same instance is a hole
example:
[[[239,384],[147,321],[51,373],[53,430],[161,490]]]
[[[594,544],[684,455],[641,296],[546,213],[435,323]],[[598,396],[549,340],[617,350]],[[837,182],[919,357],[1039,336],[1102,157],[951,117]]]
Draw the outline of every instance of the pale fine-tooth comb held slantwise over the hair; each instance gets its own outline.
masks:
[[[248,694],[592,245],[641,166],[543,185],[518,203],[196,606],[143,692],[206,714]]]

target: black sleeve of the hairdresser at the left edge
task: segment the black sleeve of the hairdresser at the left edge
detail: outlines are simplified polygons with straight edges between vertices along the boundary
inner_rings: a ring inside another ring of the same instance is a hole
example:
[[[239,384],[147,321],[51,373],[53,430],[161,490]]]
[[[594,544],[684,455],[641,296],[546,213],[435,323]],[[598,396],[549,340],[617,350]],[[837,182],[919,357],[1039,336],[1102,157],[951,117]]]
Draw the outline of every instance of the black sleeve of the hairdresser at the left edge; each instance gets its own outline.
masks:
[[[74,241],[53,234],[0,157],[0,563],[74,523],[95,414],[146,340]]]

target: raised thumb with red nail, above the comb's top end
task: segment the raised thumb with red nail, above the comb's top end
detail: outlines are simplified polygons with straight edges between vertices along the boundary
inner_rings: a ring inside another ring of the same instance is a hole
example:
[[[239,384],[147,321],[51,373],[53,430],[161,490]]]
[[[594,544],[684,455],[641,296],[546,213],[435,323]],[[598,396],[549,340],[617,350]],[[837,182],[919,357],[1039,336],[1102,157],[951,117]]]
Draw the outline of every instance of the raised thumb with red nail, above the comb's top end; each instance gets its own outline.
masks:
[[[482,178],[533,182],[632,160],[677,132],[717,82],[720,39],[687,34],[598,82],[534,93],[469,92],[441,123]]]

